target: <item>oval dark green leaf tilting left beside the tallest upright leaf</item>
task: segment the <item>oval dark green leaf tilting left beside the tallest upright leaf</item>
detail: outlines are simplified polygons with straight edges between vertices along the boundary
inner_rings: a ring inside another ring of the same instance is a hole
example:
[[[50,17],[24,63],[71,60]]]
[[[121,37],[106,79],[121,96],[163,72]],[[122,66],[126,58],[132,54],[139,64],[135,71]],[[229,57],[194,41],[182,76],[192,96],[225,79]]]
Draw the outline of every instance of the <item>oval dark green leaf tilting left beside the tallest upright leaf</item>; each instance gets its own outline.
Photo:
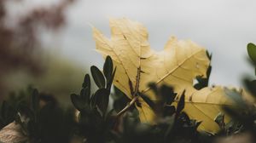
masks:
[[[105,87],[105,77],[103,76],[102,72],[96,66],[90,66],[91,75],[99,89]]]

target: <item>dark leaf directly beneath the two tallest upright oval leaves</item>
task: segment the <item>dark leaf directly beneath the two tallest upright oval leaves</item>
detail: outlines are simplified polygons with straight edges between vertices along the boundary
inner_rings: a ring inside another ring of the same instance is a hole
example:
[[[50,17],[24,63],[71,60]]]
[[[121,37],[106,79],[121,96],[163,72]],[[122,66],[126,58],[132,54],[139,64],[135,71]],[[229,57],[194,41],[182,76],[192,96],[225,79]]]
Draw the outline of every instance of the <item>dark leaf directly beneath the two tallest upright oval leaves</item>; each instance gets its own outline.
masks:
[[[110,91],[108,89],[98,89],[95,93],[96,105],[102,111],[102,115],[105,115],[108,109]]]

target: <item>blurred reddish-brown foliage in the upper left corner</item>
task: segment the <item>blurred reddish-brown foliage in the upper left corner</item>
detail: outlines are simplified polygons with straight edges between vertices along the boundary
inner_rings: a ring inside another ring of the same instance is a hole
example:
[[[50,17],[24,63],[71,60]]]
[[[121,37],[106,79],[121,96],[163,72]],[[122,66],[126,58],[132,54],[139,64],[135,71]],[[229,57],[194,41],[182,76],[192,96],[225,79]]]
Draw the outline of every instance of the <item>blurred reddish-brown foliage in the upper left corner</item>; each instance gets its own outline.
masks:
[[[0,1],[0,98],[9,91],[4,79],[9,73],[17,73],[21,69],[30,77],[40,77],[45,72],[48,63],[44,63],[40,31],[59,30],[65,24],[64,11],[73,0],[62,0],[54,6],[17,14],[14,21],[9,21],[7,4],[10,2],[23,3],[22,0]]]

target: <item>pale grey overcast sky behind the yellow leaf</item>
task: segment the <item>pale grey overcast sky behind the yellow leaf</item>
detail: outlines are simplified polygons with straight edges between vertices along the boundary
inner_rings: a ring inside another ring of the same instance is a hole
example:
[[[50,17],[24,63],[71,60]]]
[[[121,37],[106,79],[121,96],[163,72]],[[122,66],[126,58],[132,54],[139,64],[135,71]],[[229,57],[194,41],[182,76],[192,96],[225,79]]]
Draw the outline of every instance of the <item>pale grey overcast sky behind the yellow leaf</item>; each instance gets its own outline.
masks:
[[[29,0],[30,3],[32,0]],[[33,4],[55,3],[33,0]],[[90,25],[110,36],[108,18],[126,17],[148,28],[149,43],[163,49],[168,37],[191,39],[212,54],[211,84],[241,85],[253,74],[246,46],[256,43],[256,1],[253,0],[77,0],[68,9],[68,25],[54,39],[62,54],[89,69],[102,66]]]

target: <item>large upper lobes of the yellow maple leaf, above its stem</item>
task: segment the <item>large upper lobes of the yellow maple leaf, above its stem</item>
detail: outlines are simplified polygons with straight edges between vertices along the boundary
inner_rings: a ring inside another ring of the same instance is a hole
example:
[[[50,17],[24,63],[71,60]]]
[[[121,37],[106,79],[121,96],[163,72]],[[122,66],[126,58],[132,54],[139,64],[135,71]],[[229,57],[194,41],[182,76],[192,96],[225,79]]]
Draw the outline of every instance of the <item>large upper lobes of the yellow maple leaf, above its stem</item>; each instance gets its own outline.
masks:
[[[104,37],[93,28],[96,50],[110,55],[117,66],[114,85],[131,98],[129,79],[135,89],[140,68],[139,91],[148,93],[148,83],[169,84],[178,91],[193,84],[196,76],[206,76],[209,60],[206,50],[192,41],[171,37],[165,49],[150,49],[148,32],[141,24],[127,20],[110,20],[112,37]],[[154,100],[154,96],[151,97]]]

